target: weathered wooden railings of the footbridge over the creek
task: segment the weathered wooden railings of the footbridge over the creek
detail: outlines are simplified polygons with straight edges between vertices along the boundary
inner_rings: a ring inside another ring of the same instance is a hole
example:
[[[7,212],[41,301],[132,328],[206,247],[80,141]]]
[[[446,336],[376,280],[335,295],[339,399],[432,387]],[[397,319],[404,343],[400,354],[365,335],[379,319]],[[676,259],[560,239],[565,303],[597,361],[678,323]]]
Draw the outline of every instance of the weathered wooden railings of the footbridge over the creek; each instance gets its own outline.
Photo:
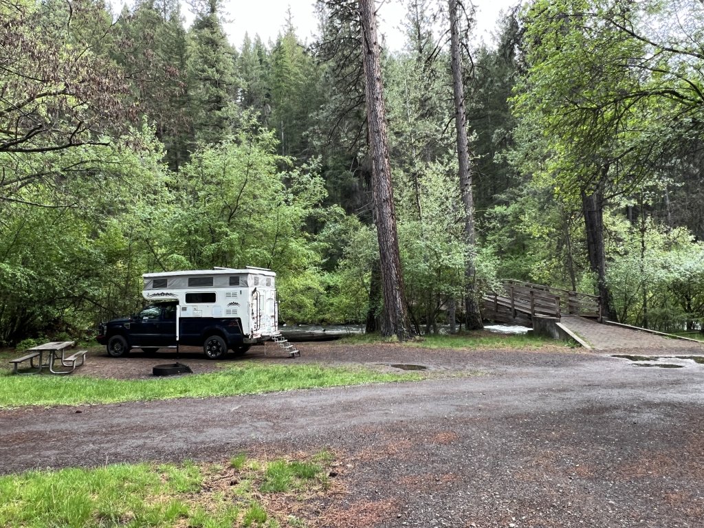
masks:
[[[513,279],[502,283],[503,292],[493,292],[484,298],[484,306],[494,313],[508,308],[513,318],[524,314],[557,318],[562,315],[582,315],[601,319],[601,306],[596,295]]]

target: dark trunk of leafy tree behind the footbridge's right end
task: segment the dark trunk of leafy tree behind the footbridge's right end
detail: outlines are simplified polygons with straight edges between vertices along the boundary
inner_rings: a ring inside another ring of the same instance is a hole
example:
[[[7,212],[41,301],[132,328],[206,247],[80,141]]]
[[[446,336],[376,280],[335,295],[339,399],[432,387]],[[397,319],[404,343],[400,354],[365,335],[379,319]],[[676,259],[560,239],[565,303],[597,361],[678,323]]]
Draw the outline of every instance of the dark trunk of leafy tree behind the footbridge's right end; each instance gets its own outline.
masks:
[[[604,251],[603,196],[601,189],[586,194],[582,191],[586,248],[589,266],[596,273],[599,306],[603,318],[615,319],[611,309],[611,294],[606,285],[606,253]]]

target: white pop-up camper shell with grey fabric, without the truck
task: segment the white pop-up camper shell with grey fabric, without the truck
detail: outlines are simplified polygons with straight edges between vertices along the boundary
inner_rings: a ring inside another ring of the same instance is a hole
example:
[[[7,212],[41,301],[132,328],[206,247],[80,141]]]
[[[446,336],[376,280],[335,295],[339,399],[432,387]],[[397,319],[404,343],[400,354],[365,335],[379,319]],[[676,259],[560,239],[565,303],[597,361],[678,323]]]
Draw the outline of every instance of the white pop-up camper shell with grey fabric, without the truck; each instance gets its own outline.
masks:
[[[177,301],[177,320],[239,318],[246,344],[280,335],[272,270],[247,266],[244,270],[214,268],[142,277],[142,296],[148,301]],[[176,326],[178,335],[181,325]]]

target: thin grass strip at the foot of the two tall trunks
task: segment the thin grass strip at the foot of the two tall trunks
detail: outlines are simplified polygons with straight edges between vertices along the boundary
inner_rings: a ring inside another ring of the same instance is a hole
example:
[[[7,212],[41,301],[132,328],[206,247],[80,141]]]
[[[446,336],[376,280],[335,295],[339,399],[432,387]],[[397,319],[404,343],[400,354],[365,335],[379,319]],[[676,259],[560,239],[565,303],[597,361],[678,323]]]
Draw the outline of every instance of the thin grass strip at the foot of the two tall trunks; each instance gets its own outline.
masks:
[[[388,338],[377,334],[359,334],[345,337],[341,340],[344,344],[378,344],[391,342]],[[415,339],[403,343],[403,346],[419,348],[543,348],[544,346],[568,346],[562,341],[555,341],[549,337],[534,336],[530,334],[494,334],[484,330],[477,332],[464,332],[462,334],[427,334],[422,339]]]

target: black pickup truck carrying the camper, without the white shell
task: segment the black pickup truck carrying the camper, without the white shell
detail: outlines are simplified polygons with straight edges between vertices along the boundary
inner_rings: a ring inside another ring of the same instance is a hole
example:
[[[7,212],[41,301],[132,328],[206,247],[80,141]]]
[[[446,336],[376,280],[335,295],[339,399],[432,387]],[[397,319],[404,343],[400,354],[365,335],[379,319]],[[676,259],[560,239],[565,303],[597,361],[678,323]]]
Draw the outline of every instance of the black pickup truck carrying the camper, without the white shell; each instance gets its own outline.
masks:
[[[159,348],[176,348],[177,303],[147,306],[129,318],[102,322],[96,341],[106,345],[113,358],[125,356],[132,348],[156,352]],[[202,346],[209,359],[220,359],[232,350],[238,356],[249,350],[244,343],[239,318],[181,318],[179,345]]]

